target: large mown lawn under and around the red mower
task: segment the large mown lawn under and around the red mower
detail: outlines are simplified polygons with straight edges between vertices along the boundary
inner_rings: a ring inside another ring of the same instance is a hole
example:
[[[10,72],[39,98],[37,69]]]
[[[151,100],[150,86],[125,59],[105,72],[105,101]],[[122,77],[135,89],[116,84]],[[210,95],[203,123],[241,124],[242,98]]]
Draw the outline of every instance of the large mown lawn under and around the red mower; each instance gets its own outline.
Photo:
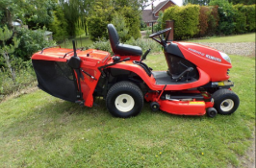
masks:
[[[230,56],[233,90],[241,105],[228,116],[152,112],[115,118],[41,90],[0,104],[1,167],[227,167],[241,166],[255,127],[255,59]],[[145,62],[166,70],[162,54]]]

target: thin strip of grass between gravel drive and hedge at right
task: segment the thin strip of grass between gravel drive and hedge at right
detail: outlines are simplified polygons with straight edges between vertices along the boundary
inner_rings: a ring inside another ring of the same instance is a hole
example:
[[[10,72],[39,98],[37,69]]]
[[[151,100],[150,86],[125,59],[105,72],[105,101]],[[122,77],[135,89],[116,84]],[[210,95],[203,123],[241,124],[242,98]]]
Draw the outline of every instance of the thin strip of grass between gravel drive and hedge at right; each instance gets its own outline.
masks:
[[[238,36],[212,36],[205,39],[190,39],[191,42],[255,42],[255,33]]]

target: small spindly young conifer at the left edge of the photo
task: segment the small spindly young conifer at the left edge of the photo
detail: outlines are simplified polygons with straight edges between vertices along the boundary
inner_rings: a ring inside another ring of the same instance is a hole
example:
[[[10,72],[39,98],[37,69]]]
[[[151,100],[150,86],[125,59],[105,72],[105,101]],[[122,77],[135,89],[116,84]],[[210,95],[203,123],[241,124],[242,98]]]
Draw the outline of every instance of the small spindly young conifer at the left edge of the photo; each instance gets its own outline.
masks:
[[[4,57],[6,64],[12,74],[13,84],[15,84],[15,72],[11,66],[10,54],[14,52],[14,49],[17,48],[19,40],[16,37],[13,37],[13,44],[7,44],[6,42],[10,40],[13,36],[13,31],[10,31],[7,26],[4,29],[0,28],[0,41],[2,41],[2,46],[0,46],[0,54]]]

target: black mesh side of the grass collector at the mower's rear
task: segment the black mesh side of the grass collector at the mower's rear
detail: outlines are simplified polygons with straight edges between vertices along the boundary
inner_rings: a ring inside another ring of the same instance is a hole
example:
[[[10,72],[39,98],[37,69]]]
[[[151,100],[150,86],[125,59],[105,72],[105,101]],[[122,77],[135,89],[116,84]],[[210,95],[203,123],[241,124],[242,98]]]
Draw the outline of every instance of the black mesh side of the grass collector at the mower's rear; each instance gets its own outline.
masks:
[[[52,60],[32,60],[32,62],[40,89],[66,101],[77,100],[74,72],[66,62]]]

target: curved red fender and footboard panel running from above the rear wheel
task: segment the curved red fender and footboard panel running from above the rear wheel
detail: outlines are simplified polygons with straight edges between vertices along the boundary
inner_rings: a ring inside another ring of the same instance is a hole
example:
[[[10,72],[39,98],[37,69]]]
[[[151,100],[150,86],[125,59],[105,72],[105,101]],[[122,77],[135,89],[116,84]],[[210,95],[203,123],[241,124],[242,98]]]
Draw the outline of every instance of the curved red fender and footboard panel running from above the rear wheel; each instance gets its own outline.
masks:
[[[140,65],[134,64],[133,61],[131,60],[117,63],[115,65],[109,66],[108,68],[123,69],[123,70],[134,72],[139,77],[141,77],[144,83],[147,84],[147,86],[152,90],[162,90],[165,86],[165,84],[156,84],[156,80],[153,77],[153,75],[149,77],[144,71],[144,69],[141,68]],[[189,83],[189,84],[167,84],[165,90],[184,90],[189,88],[195,88],[195,87],[209,83],[210,77],[208,76],[208,74],[198,67],[197,67],[197,70],[199,72],[198,81]]]

